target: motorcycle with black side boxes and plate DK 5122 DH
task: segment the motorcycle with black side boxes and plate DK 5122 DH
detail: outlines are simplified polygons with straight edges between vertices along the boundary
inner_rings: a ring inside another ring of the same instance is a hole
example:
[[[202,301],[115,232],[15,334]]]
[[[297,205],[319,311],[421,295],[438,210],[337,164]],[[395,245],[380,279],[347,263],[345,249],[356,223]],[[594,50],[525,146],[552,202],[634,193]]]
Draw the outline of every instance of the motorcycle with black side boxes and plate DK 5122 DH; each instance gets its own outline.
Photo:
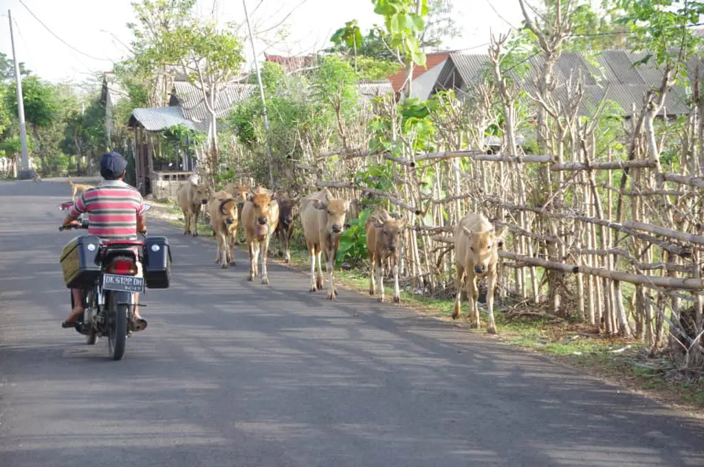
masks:
[[[73,201],[61,203],[69,210]],[[144,212],[151,205],[146,205]],[[88,229],[88,219],[81,215],[79,226],[60,226],[59,231]],[[147,236],[144,240],[103,240],[94,235],[73,238],[63,248],[61,267],[67,288],[83,290],[84,313],[75,325],[86,336],[88,345],[99,337],[108,338],[108,356],[120,360],[125,355],[127,338],[136,331],[134,294],[145,288],[168,288],[171,252],[168,238]],[[137,261],[142,263],[142,277],[136,277]],[[146,286],[146,287],[145,287]],[[74,307],[71,294],[71,307]],[[144,305],[139,305],[144,306]]]

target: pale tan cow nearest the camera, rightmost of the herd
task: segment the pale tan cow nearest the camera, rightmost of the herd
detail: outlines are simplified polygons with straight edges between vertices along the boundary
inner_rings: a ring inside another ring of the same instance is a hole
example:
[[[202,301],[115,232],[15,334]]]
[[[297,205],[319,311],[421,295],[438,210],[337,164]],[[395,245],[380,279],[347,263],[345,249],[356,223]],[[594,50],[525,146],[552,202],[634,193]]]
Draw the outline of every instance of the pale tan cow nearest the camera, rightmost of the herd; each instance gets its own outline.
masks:
[[[489,309],[489,322],[486,332],[496,334],[494,322],[494,289],[496,288],[496,264],[498,262],[498,248],[503,246],[506,228],[501,233],[496,233],[494,226],[484,215],[468,213],[455,227],[455,309],[452,319],[460,316],[462,309],[462,278],[466,274],[467,300],[470,302],[470,326],[480,328],[479,308],[477,298],[477,276],[486,276],[486,304]]]

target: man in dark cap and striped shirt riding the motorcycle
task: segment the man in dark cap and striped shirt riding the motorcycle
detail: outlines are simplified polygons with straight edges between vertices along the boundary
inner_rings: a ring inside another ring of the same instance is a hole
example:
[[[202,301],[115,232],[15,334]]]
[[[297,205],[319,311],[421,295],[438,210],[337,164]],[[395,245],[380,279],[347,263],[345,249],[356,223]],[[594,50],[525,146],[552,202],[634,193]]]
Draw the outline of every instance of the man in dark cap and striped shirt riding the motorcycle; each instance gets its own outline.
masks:
[[[88,233],[106,240],[137,240],[137,232],[146,231],[144,219],[144,200],[142,194],[123,181],[127,169],[127,160],[120,153],[112,151],[103,154],[100,160],[100,174],[104,181],[95,188],[90,188],[76,198],[68,216],[63,220],[64,226],[80,226],[78,217],[88,213]],[[137,277],[144,277],[142,262],[137,261]],[[72,288],[73,309],[61,327],[74,328],[82,316],[83,291]],[[139,293],[135,293],[139,302]],[[139,306],[134,307],[134,329],[143,331],[146,319],[139,315]]]

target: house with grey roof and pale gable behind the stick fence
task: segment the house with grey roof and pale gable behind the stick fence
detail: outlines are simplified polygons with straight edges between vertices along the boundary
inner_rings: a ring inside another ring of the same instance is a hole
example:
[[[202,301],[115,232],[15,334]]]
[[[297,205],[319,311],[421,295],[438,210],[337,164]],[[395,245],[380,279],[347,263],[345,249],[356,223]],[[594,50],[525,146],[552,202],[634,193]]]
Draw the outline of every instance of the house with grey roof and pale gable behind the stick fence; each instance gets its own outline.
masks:
[[[635,65],[643,59],[646,53],[633,53],[622,50],[595,52],[562,53],[555,64],[555,78],[558,82],[558,100],[562,105],[567,102],[565,87],[560,86],[577,74],[584,78],[585,98],[579,107],[581,115],[591,115],[593,108],[603,98],[615,101],[623,110],[626,118],[633,115],[633,107],[643,105],[643,96],[648,89],[657,87],[662,80],[662,70],[654,64]],[[536,94],[536,79],[542,67],[541,56],[530,56],[525,61],[527,73],[520,77],[517,72],[510,71],[513,79],[522,82],[522,88],[531,94]],[[690,60],[688,65],[690,76],[693,76],[699,59]],[[700,67],[704,70],[704,67]],[[434,70],[436,71],[436,70]],[[458,96],[467,96],[473,86],[482,82],[484,73],[491,74],[491,62],[486,54],[451,53],[441,68],[436,71],[436,79],[429,95],[438,91],[454,89]],[[415,84],[415,83],[414,83]],[[422,84],[422,85],[427,85]],[[686,90],[683,87],[672,87],[667,93],[665,108],[660,115],[689,114]]]

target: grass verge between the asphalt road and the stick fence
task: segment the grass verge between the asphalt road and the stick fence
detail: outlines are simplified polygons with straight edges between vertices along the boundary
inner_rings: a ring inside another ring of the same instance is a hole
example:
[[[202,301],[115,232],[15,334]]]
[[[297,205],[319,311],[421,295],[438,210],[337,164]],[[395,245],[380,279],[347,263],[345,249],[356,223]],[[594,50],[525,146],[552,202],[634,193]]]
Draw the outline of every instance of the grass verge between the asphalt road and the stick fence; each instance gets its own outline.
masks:
[[[173,208],[161,207],[160,211],[172,217]],[[168,219],[170,224],[184,227],[182,219]],[[204,238],[213,238],[209,225],[199,224],[199,233]],[[241,245],[240,245],[241,248]],[[275,241],[270,245],[270,260],[284,262],[277,257]],[[308,271],[309,260],[305,252],[291,251],[291,269]],[[367,271],[352,269],[336,271],[339,285],[360,293],[368,293],[369,276]],[[391,297],[392,289],[386,286],[386,297]],[[372,298],[370,298],[372,300]],[[672,364],[663,358],[649,357],[641,343],[622,338],[609,338],[598,333],[596,326],[589,326],[565,319],[546,316],[521,316],[520,313],[506,313],[501,304],[496,305],[496,326],[498,336],[490,336],[481,331],[470,330],[467,321],[467,301],[463,299],[463,314],[453,321],[451,313],[453,298],[432,298],[415,295],[401,290],[403,306],[436,319],[453,322],[454,326],[467,328],[469,332],[494,338],[504,345],[520,347],[539,352],[546,357],[567,366],[582,369],[609,383],[615,383],[658,400],[670,407],[689,412],[692,416],[704,419],[704,376],[698,380],[677,380],[677,372]],[[486,324],[486,314],[480,309],[482,324]],[[508,317],[513,316],[513,317]]]

